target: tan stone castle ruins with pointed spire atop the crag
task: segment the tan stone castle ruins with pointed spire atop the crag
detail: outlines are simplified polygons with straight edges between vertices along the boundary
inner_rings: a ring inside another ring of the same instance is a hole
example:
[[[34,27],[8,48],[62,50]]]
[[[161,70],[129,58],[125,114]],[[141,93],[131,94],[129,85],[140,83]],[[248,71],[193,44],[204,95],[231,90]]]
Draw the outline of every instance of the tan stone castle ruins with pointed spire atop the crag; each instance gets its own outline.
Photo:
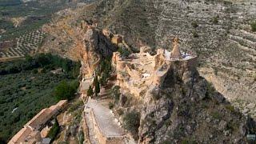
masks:
[[[171,52],[158,49],[157,54],[150,55],[150,50],[150,47],[142,46],[140,53],[130,54],[128,58],[122,58],[118,52],[113,54],[112,65],[117,73],[117,85],[122,87],[124,93],[127,91],[141,98],[147,90],[162,86],[168,70],[178,67],[176,69],[182,73],[182,80],[185,82],[190,77],[185,76],[186,71],[196,68],[197,56],[182,52],[178,46],[178,38],[174,39]]]

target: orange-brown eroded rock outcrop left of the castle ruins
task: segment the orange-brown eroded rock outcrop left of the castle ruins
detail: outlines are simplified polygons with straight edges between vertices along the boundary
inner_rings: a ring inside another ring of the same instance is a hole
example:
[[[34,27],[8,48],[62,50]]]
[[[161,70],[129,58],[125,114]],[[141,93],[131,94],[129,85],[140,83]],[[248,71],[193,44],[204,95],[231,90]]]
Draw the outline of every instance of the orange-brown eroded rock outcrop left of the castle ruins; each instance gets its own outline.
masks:
[[[52,23],[43,27],[47,37],[39,51],[79,60],[83,77],[91,77],[100,59],[111,58],[116,46],[102,30],[83,21],[79,10],[62,10]]]

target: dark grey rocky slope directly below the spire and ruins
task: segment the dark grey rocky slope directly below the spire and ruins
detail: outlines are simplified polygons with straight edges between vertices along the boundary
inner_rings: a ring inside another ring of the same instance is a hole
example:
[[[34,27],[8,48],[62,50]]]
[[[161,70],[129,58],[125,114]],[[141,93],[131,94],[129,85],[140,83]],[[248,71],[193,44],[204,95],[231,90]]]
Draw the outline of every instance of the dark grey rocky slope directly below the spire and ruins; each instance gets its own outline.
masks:
[[[147,91],[139,110],[139,142],[246,143],[255,123],[238,112],[197,70],[174,62],[162,86]]]

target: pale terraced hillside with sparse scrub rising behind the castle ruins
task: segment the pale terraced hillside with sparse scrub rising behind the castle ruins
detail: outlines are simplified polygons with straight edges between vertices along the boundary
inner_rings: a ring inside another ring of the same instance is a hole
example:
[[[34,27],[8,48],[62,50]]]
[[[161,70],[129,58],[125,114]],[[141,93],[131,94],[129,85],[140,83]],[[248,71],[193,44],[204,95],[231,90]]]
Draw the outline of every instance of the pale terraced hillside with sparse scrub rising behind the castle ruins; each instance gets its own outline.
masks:
[[[80,20],[98,23],[99,29],[124,35],[134,48],[149,45],[170,49],[170,38],[178,36],[182,49],[198,53],[200,74],[241,110],[250,111],[256,118],[256,34],[250,30],[255,10],[256,3],[249,0],[101,0],[77,10],[62,11],[48,30],[50,37],[54,37],[48,39],[43,49],[58,52],[65,49],[66,56],[78,58],[78,53],[70,53],[76,51],[74,47],[83,45],[79,37],[85,32],[79,31]],[[68,32],[70,27],[73,34]],[[78,42],[74,42],[77,37]]]

